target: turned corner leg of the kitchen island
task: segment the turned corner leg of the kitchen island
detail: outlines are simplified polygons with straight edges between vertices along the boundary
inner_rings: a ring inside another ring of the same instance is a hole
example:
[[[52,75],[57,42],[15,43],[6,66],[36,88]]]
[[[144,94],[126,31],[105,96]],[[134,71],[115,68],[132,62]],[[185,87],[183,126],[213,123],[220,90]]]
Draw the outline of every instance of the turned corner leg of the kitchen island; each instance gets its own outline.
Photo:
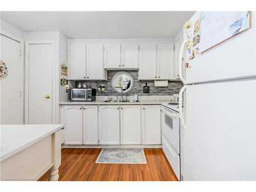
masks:
[[[49,181],[58,181],[59,165],[61,163],[61,130],[52,134],[52,162],[49,170]]]

